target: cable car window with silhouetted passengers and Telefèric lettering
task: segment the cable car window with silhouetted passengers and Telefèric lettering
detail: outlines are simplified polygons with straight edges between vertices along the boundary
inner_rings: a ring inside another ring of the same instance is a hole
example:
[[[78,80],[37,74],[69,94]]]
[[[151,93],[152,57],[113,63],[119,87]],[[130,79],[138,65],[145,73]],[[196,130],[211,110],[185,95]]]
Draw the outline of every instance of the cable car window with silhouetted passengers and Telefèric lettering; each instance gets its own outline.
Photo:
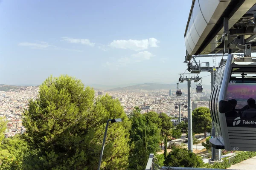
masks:
[[[227,113],[227,126],[256,127],[256,70],[233,68],[227,86],[226,101],[233,105]]]

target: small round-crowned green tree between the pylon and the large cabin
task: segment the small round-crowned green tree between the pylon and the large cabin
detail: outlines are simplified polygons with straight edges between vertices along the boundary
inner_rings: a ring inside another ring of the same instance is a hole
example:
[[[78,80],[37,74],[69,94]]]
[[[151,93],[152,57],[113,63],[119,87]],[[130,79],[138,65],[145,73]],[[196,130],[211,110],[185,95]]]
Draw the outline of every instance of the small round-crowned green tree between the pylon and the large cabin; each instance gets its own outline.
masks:
[[[204,138],[206,138],[206,133],[210,132],[212,128],[212,119],[209,108],[200,107],[193,110],[192,128],[195,133],[204,133]]]

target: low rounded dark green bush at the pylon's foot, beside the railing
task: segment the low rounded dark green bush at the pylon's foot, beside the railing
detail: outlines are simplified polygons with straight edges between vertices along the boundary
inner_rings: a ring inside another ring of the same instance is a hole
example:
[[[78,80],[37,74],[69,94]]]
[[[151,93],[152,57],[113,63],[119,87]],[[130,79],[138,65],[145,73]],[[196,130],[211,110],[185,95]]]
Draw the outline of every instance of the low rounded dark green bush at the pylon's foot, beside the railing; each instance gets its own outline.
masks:
[[[203,160],[191,150],[180,147],[172,147],[172,151],[164,161],[165,166],[171,167],[202,167]]]

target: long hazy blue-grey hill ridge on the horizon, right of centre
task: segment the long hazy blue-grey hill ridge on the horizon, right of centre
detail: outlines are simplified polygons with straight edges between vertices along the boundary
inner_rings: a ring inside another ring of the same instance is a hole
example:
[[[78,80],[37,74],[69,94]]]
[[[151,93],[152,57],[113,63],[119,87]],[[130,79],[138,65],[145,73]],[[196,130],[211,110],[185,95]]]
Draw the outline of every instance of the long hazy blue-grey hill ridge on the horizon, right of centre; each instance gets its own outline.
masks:
[[[193,89],[195,83],[191,83],[191,88]],[[131,85],[123,88],[113,88],[107,91],[129,91],[129,90],[175,90],[177,87],[176,84],[157,84],[157,83],[144,83],[140,85]],[[179,88],[187,88],[187,83],[180,83]],[[203,85],[205,90],[211,90],[210,85]]]

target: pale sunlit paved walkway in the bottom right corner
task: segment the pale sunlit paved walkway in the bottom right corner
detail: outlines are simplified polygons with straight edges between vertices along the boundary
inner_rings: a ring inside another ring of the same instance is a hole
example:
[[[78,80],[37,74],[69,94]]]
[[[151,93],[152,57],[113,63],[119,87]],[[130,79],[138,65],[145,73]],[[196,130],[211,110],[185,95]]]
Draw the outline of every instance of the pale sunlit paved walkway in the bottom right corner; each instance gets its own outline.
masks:
[[[233,170],[255,170],[256,169],[256,156],[253,158],[247,159],[245,161],[241,161],[238,164],[231,165],[230,168]]]

